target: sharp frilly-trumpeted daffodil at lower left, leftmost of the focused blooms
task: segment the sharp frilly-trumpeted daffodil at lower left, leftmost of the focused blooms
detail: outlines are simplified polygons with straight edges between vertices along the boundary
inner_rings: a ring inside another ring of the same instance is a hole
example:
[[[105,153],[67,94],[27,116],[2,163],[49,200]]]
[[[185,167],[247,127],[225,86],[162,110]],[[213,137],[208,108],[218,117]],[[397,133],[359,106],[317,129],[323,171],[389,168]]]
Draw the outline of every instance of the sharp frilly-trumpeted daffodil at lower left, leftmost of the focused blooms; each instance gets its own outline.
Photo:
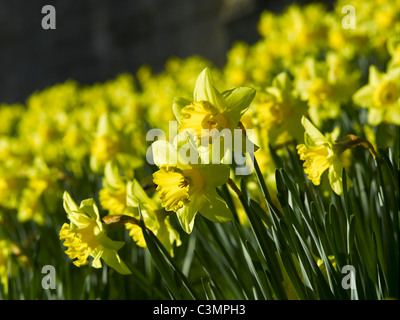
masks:
[[[117,251],[125,244],[113,241],[107,236],[98,208],[93,199],[86,199],[78,207],[71,196],[64,193],[64,209],[70,224],[64,223],[60,230],[60,239],[65,239],[68,247],[66,254],[78,267],[88,264],[88,257],[93,257],[91,266],[101,268],[100,258],[121,274],[130,274],[130,270],[119,257]]]

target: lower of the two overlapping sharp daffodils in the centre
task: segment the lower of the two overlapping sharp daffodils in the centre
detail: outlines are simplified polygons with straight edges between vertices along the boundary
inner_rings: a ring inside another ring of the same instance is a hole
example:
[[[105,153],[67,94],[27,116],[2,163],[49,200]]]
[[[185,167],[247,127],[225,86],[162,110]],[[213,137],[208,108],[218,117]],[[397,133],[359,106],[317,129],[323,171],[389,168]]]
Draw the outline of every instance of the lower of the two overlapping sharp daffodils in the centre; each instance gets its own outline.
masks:
[[[216,187],[229,179],[229,167],[223,164],[191,164],[183,161],[182,149],[167,141],[152,144],[154,163],[159,170],[153,181],[167,211],[174,211],[187,233],[191,233],[197,212],[213,222],[226,222],[233,216]]]

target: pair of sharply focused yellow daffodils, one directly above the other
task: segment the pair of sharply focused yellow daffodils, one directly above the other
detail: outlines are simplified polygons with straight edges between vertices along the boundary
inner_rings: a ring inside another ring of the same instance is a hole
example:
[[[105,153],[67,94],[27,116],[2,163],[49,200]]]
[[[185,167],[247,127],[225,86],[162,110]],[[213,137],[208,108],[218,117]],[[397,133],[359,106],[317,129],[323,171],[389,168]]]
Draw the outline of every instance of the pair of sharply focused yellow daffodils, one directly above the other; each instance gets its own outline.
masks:
[[[194,150],[194,155],[188,161],[188,150],[182,147],[179,139],[172,145],[167,141],[152,144],[154,162],[159,167],[153,174],[153,181],[161,204],[165,210],[176,212],[187,233],[192,232],[198,212],[213,222],[226,222],[233,218],[225,200],[216,191],[216,187],[228,181],[230,169],[215,161],[202,164],[197,142],[201,143],[203,139],[212,141],[215,130],[217,134],[228,130],[231,137],[234,136],[233,131],[238,128],[240,118],[254,95],[254,89],[247,87],[220,93],[215,88],[210,69],[206,68],[197,78],[193,101],[175,98],[173,104],[179,121],[178,137],[188,134],[187,143],[193,144],[191,151]],[[232,145],[230,150],[233,150]]]

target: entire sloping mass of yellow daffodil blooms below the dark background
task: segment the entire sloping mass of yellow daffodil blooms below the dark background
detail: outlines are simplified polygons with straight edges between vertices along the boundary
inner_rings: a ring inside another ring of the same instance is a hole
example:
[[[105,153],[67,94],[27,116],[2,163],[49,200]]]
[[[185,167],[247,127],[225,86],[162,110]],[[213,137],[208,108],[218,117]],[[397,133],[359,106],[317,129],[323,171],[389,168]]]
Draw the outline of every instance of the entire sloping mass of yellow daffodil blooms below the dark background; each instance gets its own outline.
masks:
[[[266,211],[271,203],[259,176],[237,174],[238,159],[251,159],[252,169],[257,163],[279,208],[277,169],[297,170],[294,181],[304,172],[324,195],[343,196],[343,173],[351,188],[358,165],[351,148],[364,146],[376,157],[375,149],[388,146],[395,157],[400,3],[353,0],[350,29],[342,25],[346,5],[263,12],[260,39],[236,42],[221,69],[198,56],[171,58],[158,74],[142,66],[104,83],[66,81],[25,103],[0,103],[2,286],[8,289],[15,274],[13,248],[35,243],[40,228],[59,231],[75,266],[106,263],[130,274],[119,250],[146,250],[144,228],[176,257],[196,217],[229,223],[236,211],[248,227],[239,188],[228,201],[224,185],[240,183],[248,191],[242,196]],[[176,137],[170,121],[177,122]],[[169,142],[150,141],[150,129]],[[302,167],[290,162],[291,153]],[[64,190],[86,200],[78,206]],[[112,239],[118,227],[126,241]],[[28,229],[14,244],[14,231]],[[317,265],[325,270],[326,262]]]

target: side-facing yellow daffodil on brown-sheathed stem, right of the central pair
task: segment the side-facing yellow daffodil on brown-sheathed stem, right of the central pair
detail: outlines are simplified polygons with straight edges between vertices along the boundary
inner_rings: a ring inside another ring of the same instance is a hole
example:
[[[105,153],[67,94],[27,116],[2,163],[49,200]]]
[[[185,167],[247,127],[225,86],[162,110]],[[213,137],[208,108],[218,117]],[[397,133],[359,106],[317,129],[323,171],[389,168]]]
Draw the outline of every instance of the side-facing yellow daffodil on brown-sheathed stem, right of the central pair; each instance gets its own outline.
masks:
[[[332,190],[336,194],[342,195],[343,165],[340,156],[343,150],[332,142],[332,140],[335,140],[337,133],[333,132],[331,139],[328,139],[307,118],[303,117],[301,123],[305,129],[305,143],[297,145],[297,152],[300,155],[300,159],[305,161],[304,172],[311,182],[317,186],[321,182],[322,174],[328,170],[328,178]],[[347,185],[350,187],[350,178],[347,181]]]

